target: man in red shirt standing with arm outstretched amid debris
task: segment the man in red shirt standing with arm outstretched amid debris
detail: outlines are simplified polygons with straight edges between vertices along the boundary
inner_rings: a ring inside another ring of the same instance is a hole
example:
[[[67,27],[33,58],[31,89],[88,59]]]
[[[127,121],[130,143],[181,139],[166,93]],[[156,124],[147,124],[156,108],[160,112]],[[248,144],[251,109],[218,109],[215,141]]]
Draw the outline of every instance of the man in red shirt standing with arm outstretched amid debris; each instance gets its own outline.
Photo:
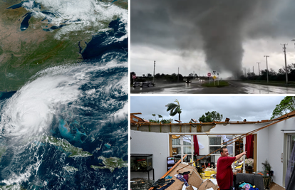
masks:
[[[229,151],[227,147],[222,147],[220,149],[221,157],[217,161],[217,184],[220,190],[227,190],[232,186],[232,181],[234,180],[234,174],[232,173],[232,163],[240,159],[243,155],[246,155],[247,151],[235,157],[229,157]]]

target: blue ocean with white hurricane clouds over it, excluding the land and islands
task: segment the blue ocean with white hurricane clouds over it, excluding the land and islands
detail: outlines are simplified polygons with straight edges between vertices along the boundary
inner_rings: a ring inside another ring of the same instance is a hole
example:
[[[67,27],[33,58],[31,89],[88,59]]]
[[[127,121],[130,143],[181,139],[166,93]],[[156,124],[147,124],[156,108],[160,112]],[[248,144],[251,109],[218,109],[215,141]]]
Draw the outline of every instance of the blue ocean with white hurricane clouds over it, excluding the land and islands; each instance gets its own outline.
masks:
[[[0,147],[7,148],[0,186],[128,189],[128,167],[90,167],[102,166],[101,156],[128,162],[128,38],[120,19],[109,27],[93,36],[82,63],[41,70],[19,90],[0,94]],[[93,155],[68,157],[43,140],[48,136]]]

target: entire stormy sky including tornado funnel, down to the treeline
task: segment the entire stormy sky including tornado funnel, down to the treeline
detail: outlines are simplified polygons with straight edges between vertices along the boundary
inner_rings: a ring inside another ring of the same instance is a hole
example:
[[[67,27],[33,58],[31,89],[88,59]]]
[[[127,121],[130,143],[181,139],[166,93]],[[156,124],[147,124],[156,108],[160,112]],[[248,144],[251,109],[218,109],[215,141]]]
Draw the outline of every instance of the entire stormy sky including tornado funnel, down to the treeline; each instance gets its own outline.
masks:
[[[130,71],[226,78],[295,63],[293,0],[131,0]]]

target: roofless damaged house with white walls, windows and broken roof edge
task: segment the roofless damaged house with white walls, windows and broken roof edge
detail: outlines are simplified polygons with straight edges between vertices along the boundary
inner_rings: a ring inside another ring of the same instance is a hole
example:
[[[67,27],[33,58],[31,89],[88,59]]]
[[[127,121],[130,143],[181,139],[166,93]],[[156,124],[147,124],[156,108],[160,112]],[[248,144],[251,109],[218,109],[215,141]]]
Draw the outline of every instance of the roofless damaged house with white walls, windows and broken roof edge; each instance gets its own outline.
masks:
[[[232,122],[227,118],[225,122],[192,120],[190,123],[170,124],[151,123],[136,116],[138,114],[130,115],[130,179],[160,179],[171,168],[167,162],[169,159],[193,162],[209,154],[197,164],[215,164],[220,154],[214,150],[227,146],[232,157],[247,150],[247,157],[253,161],[252,168],[242,172],[259,173],[264,170],[262,163],[267,160],[272,181],[281,188],[286,186],[287,163],[295,139],[295,111],[274,120],[257,122]],[[227,141],[233,143],[222,144]],[[152,169],[148,172],[133,172],[133,155],[140,154],[152,159]]]

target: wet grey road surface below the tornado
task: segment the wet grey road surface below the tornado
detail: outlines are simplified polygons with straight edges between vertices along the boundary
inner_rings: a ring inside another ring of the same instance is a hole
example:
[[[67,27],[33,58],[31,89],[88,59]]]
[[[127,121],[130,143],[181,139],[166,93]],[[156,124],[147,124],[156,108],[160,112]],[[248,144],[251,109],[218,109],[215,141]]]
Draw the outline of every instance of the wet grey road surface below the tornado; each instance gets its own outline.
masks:
[[[156,83],[155,87],[130,88],[130,93],[140,94],[295,94],[295,88],[256,85],[230,81],[229,86],[222,88],[202,87],[202,83],[193,81],[185,83]]]

